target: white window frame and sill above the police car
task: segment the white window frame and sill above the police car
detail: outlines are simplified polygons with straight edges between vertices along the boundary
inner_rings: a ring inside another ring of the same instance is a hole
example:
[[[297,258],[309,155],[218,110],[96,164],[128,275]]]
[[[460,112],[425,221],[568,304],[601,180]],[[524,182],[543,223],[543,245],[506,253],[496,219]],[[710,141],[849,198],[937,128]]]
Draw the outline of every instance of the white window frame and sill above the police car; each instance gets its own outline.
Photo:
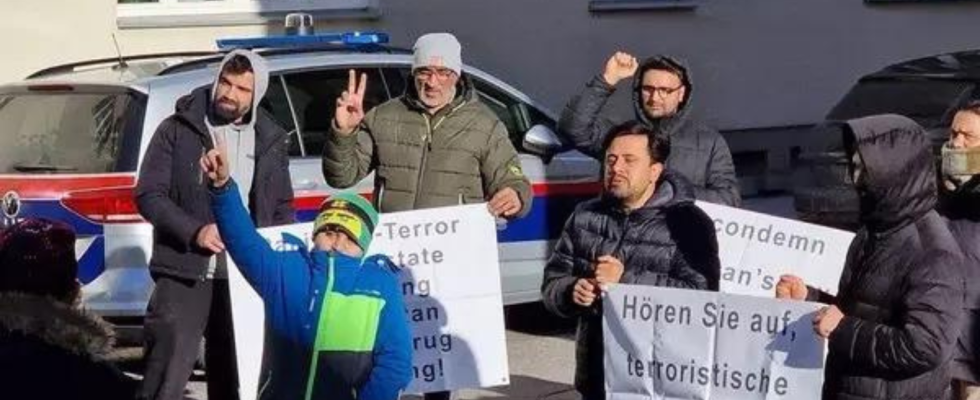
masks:
[[[380,0],[117,0],[120,28],[220,26],[281,21],[291,12],[322,19],[373,19]]]

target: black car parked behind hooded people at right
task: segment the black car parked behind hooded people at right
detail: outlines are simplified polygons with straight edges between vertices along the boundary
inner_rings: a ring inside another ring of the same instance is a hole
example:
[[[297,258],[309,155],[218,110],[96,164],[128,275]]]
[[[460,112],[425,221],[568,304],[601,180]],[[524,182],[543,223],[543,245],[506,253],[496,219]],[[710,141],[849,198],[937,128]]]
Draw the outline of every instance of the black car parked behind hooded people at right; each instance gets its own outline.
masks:
[[[853,230],[858,202],[832,121],[901,114],[926,128],[937,162],[956,110],[980,98],[980,50],[940,54],[889,65],[858,80],[815,127],[824,144],[801,155],[794,167],[793,200],[801,220]]]

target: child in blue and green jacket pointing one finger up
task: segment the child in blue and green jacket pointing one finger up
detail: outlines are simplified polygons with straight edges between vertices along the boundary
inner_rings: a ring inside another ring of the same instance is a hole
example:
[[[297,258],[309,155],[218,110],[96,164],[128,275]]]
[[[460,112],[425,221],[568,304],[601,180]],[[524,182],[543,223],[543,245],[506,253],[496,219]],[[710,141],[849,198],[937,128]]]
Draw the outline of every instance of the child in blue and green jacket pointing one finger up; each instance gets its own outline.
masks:
[[[395,400],[412,378],[412,345],[397,267],[364,258],[377,212],[339,194],[320,208],[314,249],[277,252],[260,236],[215,150],[201,163],[228,253],[265,302],[260,399]],[[224,172],[222,172],[224,170]]]

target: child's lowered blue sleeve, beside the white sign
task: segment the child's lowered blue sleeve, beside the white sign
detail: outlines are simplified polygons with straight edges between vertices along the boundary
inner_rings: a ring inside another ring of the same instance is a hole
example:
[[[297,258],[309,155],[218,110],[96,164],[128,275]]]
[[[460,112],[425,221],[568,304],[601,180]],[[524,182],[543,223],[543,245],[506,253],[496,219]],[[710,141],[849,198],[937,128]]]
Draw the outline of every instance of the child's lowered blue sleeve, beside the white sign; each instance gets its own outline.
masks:
[[[358,393],[358,400],[396,400],[412,380],[412,338],[398,278],[393,272],[379,275],[388,281],[385,305],[374,345],[374,368]]]

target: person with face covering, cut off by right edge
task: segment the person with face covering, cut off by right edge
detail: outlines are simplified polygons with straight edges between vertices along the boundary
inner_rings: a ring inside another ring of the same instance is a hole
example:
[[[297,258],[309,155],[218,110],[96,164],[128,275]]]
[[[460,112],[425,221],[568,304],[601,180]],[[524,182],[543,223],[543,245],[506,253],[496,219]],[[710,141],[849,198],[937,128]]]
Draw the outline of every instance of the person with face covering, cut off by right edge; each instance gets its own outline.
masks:
[[[939,211],[963,250],[964,304],[953,357],[956,400],[980,399],[980,101],[957,111],[943,146]]]

